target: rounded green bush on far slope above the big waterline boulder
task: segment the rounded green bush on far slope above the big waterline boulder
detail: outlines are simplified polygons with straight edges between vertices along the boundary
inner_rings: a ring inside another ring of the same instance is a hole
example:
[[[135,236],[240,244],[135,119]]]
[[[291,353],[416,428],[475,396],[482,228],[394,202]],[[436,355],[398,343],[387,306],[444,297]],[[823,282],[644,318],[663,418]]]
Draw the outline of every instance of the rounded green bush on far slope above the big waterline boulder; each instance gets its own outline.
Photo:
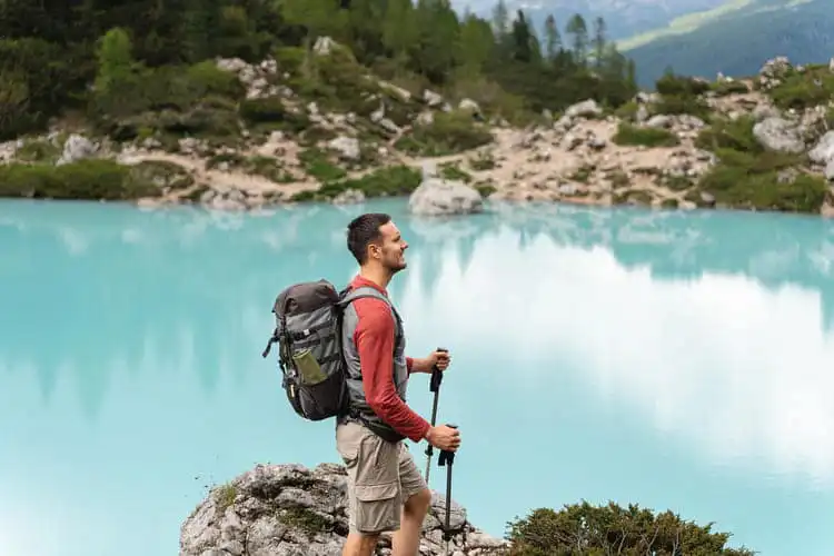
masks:
[[[493,141],[493,133],[463,112],[438,112],[431,123],[417,123],[396,147],[411,155],[443,157],[476,149]]]

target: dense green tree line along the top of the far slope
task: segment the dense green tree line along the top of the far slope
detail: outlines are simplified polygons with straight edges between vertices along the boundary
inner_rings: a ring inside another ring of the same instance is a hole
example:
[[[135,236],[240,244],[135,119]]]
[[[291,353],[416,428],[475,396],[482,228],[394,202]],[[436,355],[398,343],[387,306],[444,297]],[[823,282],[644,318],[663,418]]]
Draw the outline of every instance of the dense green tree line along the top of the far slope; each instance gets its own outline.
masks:
[[[549,17],[536,29],[504,0],[492,18],[457,13],[448,0],[6,0],[0,138],[42,129],[67,109],[87,111],[108,62],[102,37],[116,28],[129,38],[125,62],[151,69],[216,57],[256,62],[328,36],[383,77],[476,100],[507,95],[534,112],[587,98],[616,107],[636,92],[634,63],[607,40],[602,18]]]

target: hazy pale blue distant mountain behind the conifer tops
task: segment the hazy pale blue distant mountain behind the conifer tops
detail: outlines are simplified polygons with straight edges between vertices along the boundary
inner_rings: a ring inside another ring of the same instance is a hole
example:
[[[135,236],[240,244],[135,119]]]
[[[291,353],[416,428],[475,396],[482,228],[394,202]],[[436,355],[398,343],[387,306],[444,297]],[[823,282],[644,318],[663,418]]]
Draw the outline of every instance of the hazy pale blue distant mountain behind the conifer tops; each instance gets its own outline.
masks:
[[[608,37],[622,39],[658,27],[664,27],[675,18],[687,13],[717,8],[733,0],[505,0],[512,17],[516,10],[524,10],[542,37],[544,21],[553,14],[565,29],[567,21],[582,14],[590,21],[602,16],[605,19]],[[832,0],[834,1],[834,0]],[[453,0],[453,6],[463,11],[469,8],[484,17],[492,14],[497,0]]]

